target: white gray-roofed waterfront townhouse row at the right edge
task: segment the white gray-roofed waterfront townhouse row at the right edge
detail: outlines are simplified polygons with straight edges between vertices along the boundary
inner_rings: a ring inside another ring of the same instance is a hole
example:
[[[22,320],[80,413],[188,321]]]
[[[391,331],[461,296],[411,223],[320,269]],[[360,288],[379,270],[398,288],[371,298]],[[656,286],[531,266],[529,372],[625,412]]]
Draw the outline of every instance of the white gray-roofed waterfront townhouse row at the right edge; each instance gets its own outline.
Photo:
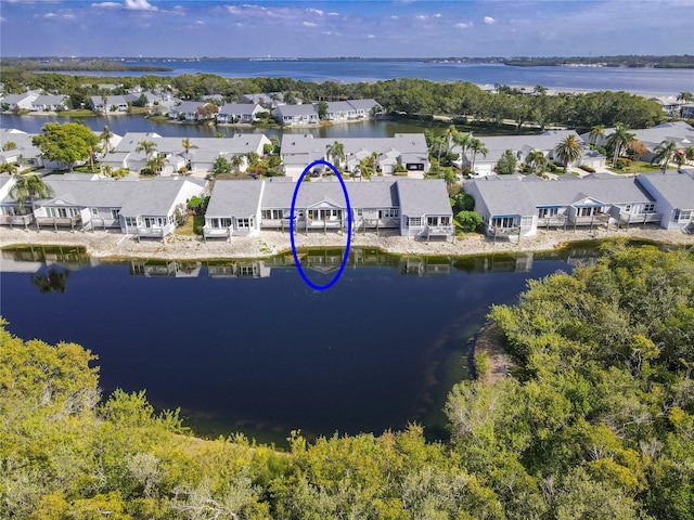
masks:
[[[635,177],[561,176],[544,181],[488,177],[465,182],[490,236],[534,236],[539,229],[658,224],[685,229],[694,216],[694,172]]]

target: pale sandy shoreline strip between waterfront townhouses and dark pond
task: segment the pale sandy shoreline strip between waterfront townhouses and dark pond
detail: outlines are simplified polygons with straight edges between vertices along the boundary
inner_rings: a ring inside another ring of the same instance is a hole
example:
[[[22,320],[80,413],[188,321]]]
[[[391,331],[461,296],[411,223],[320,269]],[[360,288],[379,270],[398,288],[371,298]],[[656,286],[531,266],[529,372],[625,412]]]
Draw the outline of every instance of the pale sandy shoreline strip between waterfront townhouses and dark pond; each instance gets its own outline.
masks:
[[[408,238],[396,231],[357,233],[350,247],[380,249],[397,256],[425,257],[468,257],[490,253],[542,252],[563,248],[574,242],[600,240],[611,237],[624,237],[632,240],[653,242],[673,246],[694,246],[694,236],[681,231],[661,229],[630,229],[618,231],[577,230],[539,231],[535,237],[523,238],[518,244],[497,242],[483,235],[466,235],[450,239]],[[343,248],[345,235],[342,233],[295,235],[297,249]],[[73,246],[85,248],[87,255],[101,260],[158,259],[158,260],[229,260],[262,259],[291,253],[288,232],[264,231],[259,236],[232,236],[230,239],[210,239],[204,242],[200,236],[169,235],[166,240],[143,238],[138,242],[133,235],[124,235],[119,230],[112,231],[25,231],[21,229],[0,229],[0,249],[25,246]]]

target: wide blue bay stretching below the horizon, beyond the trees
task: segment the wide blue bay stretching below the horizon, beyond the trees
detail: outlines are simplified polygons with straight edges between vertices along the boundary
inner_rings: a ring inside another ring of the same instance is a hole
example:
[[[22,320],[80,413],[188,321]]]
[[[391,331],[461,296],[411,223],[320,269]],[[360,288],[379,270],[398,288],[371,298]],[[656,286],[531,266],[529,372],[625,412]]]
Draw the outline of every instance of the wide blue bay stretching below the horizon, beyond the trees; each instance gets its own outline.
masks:
[[[228,78],[271,77],[304,81],[377,81],[381,79],[420,78],[432,81],[471,81],[477,84],[536,86],[578,90],[626,90],[643,93],[678,94],[694,90],[693,69],[613,68],[613,67],[512,67],[499,64],[460,64],[424,62],[349,62],[349,61],[190,61],[138,62],[133,65],[169,66],[170,73],[208,73]],[[83,73],[75,73],[83,74]],[[94,73],[107,76],[104,73]],[[125,76],[113,73],[111,76]]]

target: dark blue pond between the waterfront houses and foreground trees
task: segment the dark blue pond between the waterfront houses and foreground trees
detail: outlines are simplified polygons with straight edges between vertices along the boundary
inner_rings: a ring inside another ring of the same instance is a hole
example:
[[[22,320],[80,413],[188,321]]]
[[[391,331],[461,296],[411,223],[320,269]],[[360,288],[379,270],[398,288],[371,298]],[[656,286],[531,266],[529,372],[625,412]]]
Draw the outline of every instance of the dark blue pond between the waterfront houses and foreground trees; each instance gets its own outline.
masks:
[[[0,311],[22,338],[92,350],[105,394],[146,389],[203,434],[280,443],[297,428],[381,433],[419,421],[436,438],[489,306],[587,256],[594,250],[451,259],[354,249],[337,284],[317,292],[291,255],[99,263],[78,249],[23,248],[2,251]],[[324,284],[340,260],[310,251],[301,265]]]

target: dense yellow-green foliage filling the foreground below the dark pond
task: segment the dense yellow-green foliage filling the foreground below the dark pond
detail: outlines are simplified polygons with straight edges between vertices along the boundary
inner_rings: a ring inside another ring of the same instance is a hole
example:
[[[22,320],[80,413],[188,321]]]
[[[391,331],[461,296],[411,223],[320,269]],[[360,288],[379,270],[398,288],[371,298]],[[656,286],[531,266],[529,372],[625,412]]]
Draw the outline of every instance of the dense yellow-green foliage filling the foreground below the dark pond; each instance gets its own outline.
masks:
[[[287,452],[191,437],[144,392],[100,403],[89,351],[2,324],[0,518],[692,518],[692,253],[612,244],[491,315],[517,368],[454,387],[450,442],[294,432]]]

